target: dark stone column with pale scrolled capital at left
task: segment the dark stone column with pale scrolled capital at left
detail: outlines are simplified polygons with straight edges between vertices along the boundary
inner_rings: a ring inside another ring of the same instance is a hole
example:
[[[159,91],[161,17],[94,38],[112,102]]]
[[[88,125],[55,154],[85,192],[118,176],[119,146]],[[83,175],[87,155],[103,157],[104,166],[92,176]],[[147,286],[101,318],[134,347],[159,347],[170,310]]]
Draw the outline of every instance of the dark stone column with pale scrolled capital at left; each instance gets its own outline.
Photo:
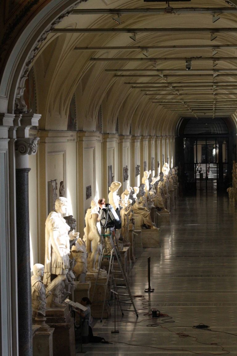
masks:
[[[31,264],[29,236],[28,155],[37,153],[38,137],[29,137],[31,126],[38,126],[41,115],[19,114],[16,126],[16,236],[19,354],[32,356]],[[20,286],[20,287],[19,287]]]

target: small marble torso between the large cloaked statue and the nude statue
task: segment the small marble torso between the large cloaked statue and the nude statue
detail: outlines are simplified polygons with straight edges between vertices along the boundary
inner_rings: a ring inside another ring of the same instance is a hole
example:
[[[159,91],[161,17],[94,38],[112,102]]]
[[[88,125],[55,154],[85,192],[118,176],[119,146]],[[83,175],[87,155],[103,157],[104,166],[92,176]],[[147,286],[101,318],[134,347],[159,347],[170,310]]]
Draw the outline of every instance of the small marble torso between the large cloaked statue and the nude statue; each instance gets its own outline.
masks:
[[[71,253],[76,261],[73,271],[76,274],[77,281],[79,281],[81,274],[86,274],[87,272],[87,252],[85,241],[79,238],[76,241],[75,246],[72,246]]]

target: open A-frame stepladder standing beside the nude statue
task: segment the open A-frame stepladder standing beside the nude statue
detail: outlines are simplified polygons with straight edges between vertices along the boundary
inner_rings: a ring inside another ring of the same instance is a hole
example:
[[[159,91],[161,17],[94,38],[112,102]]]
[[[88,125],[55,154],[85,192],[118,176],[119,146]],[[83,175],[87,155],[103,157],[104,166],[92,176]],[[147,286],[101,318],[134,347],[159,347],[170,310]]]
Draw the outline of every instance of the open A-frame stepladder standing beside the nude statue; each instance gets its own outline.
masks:
[[[133,301],[133,297],[131,295],[130,292],[130,288],[129,288],[129,284],[128,284],[128,279],[126,277],[125,271],[124,271],[124,267],[123,267],[123,263],[122,263],[122,258],[119,252],[119,247],[117,244],[117,240],[115,239],[114,236],[114,231],[112,231],[111,234],[101,234],[102,236],[104,236],[105,238],[109,238],[110,242],[111,242],[111,246],[112,246],[112,251],[111,251],[111,255],[105,255],[105,249],[103,250],[102,256],[101,256],[101,261],[99,263],[99,271],[101,269],[101,264],[103,261],[104,257],[109,258],[109,269],[108,269],[108,275],[107,275],[107,280],[106,280],[106,284],[105,284],[105,293],[104,293],[104,301],[103,301],[103,308],[102,308],[102,314],[101,314],[101,322],[103,320],[103,313],[104,313],[104,306],[106,303],[106,296],[108,293],[108,286],[109,286],[109,282],[111,284],[111,292],[115,292],[114,294],[114,298],[117,298],[118,300],[118,304],[119,304],[119,308],[121,310],[122,315],[124,315],[124,311],[128,311],[128,312],[133,312],[136,314],[136,317],[138,318],[138,312],[136,310],[134,301]],[[92,300],[93,300],[93,296],[96,290],[96,285],[98,284],[98,276],[99,276],[99,271],[98,271],[98,275],[96,278],[96,283],[95,283],[95,287],[93,290],[93,295],[92,295]],[[120,278],[118,278],[120,276]],[[104,284],[103,284],[104,285]],[[123,291],[123,293],[122,293]],[[110,295],[110,293],[109,293]],[[122,299],[121,297],[126,297],[126,299]],[[114,303],[115,303],[115,299],[114,299]],[[129,304],[133,306],[133,309],[125,309],[125,307],[123,307],[122,304]]]

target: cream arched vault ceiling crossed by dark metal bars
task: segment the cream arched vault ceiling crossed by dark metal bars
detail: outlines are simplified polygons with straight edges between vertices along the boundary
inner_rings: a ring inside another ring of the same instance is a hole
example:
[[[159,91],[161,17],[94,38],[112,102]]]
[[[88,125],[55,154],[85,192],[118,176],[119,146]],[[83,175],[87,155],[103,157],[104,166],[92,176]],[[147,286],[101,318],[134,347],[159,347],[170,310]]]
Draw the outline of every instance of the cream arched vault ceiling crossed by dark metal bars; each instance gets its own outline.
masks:
[[[66,129],[74,93],[80,130],[95,130],[100,106],[103,132],[118,117],[122,135],[130,124],[133,135],[175,135],[181,117],[236,121],[236,5],[82,2],[34,62],[42,127]]]

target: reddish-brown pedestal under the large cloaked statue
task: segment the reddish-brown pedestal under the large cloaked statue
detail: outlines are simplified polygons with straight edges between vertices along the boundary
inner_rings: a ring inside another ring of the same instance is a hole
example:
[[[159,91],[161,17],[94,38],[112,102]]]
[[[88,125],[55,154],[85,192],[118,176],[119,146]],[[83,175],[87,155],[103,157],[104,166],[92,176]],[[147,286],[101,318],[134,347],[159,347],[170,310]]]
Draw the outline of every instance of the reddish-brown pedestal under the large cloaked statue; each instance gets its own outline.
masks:
[[[69,305],[46,310],[46,324],[54,328],[53,356],[75,356],[74,319],[71,318]]]

